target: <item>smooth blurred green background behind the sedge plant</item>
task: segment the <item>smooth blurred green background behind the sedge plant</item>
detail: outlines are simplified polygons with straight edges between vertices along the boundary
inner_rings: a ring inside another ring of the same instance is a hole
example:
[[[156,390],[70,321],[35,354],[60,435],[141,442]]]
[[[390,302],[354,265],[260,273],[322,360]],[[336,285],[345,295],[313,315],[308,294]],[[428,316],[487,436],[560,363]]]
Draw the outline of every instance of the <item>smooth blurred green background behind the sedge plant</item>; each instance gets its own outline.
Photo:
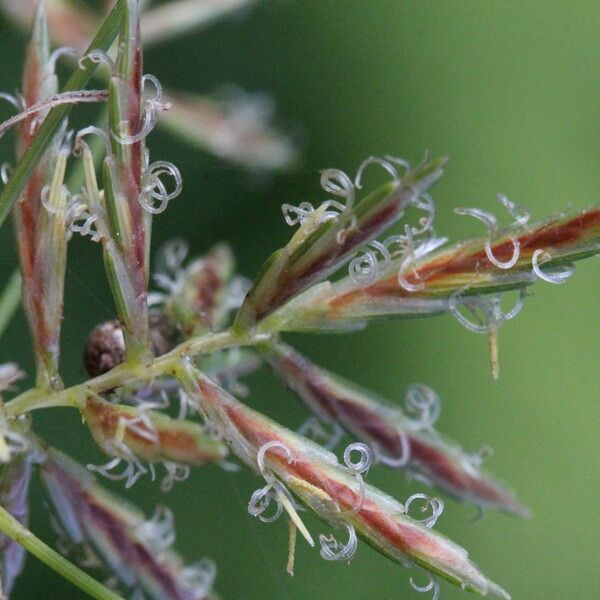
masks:
[[[240,271],[251,276],[290,235],[280,205],[320,201],[320,168],[353,173],[371,154],[449,155],[434,197],[437,230],[451,239],[481,231],[453,208],[497,210],[498,192],[536,217],[597,202],[599,32],[593,1],[267,0],[153,48],[146,71],[170,88],[210,92],[234,82],[271,93],[304,151],[295,173],[256,177],[155,133],[152,157],[177,164],[185,183],[156,220],[155,243],[181,236],[199,253],[227,240]],[[25,40],[0,21],[2,90],[20,85]],[[11,158],[6,140],[0,156]],[[8,228],[2,235],[5,278],[15,257]],[[489,468],[516,488],[534,518],[488,513],[473,522],[473,508],[449,500],[437,528],[516,599],[590,598],[600,588],[599,275],[592,259],[564,286],[535,287],[501,330],[498,382],[490,377],[485,337],[451,317],[294,340],[323,365],[391,399],[400,401],[409,383],[431,385],[443,399],[440,429],[468,448],[496,449]],[[86,332],[113,315],[98,249],[87,240],[73,242],[67,286],[63,362],[66,381],[74,383],[84,377]],[[2,340],[0,360],[31,370],[22,314]],[[303,406],[266,372],[252,379],[252,390],[248,401],[281,423],[297,427],[305,419]],[[36,414],[35,429],[84,462],[101,460],[76,414]],[[422,488],[381,468],[369,480],[400,500]],[[348,566],[327,563],[300,542],[296,575],[288,577],[284,522],[263,524],[246,512],[259,483],[247,472],[209,467],[167,496],[143,480],[131,497],[148,512],[157,502],[174,509],[178,548],[188,560],[216,560],[216,587],[226,600],[420,597],[409,572],[365,544]],[[53,540],[37,484],[34,496],[32,528]],[[80,595],[30,558],[13,597]],[[466,595],[442,584],[442,597]]]

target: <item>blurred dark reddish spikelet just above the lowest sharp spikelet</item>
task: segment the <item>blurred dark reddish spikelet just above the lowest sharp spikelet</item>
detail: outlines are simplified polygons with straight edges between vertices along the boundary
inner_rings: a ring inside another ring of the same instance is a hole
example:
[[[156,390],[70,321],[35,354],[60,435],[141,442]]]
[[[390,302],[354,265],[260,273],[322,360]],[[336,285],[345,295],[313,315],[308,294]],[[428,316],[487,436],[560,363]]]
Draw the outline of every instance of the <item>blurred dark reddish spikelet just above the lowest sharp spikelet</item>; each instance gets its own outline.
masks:
[[[431,424],[424,427],[398,406],[317,367],[289,346],[271,344],[265,356],[311,410],[383,450],[383,462],[416,471],[461,500],[528,514],[509,490],[481,472],[458,444],[431,430]]]

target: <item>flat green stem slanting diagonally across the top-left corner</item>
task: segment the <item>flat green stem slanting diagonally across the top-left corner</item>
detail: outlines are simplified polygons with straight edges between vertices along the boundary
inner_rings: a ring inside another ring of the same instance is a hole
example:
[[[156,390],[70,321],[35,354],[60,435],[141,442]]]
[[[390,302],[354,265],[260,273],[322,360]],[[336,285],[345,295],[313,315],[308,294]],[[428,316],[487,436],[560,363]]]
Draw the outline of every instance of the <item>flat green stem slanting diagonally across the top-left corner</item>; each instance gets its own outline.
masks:
[[[121,20],[125,14],[126,2],[119,0],[111,13],[100,27],[96,37],[93,39],[86,53],[92,50],[107,51],[114,42],[119,32]],[[86,61],[84,68],[77,68],[67,81],[63,91],[75,91],[83,89],[92,77],[97,63]],[[8,183],[0,194],[0,227],[9,215],[14,203],[25,188],[29,176],[41,160],[46,148],[54,138],[61,123],[69,114],[70,104],[55,106],[44,119],[38,133],[27,148],[23,158],[19,161]]]

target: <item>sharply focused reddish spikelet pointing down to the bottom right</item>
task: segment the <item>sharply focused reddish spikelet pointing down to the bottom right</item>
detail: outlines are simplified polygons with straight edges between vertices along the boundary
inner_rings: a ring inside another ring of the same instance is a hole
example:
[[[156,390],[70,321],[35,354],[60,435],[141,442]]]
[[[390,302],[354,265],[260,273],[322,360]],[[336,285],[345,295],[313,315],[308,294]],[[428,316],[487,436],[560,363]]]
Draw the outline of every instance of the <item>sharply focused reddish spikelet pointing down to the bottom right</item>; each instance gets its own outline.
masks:
[[[247,408],[191,366],[183,367],[180,377],[238,457],[263,475],[268,469],[318,517],[332,525],[352,526],[371,546],[401,564],[417,564],[481,595],[510,598],[464,549],[408,517],[401,504],[358,479],[335,455]],[[273,443],[266,452],[265,444]]]

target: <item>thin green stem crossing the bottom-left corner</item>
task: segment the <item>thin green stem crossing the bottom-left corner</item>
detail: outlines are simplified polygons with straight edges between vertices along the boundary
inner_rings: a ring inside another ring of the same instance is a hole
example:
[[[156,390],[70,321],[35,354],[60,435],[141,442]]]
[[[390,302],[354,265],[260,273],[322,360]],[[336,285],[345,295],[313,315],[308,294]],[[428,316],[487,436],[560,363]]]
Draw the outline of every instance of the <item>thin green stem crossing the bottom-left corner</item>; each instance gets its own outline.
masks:
[[[51,569],[97,600],[123,600],[101,583],[84,573],[64,556],[50,548],[0,506],[0,532],[14,540]]]

